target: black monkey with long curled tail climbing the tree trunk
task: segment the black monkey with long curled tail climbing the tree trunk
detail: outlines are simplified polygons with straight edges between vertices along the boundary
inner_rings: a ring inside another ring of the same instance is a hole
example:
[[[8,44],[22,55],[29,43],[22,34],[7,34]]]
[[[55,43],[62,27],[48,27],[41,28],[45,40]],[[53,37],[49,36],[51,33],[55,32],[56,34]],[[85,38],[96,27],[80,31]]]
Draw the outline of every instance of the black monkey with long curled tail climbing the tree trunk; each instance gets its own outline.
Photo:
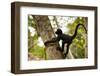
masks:
[[[50,40],[50,41],[46,41],[44,44],[47,45],[48,43],[59,42],[60,40],[62,40],[62,48],[60,49],[60,47],[59,47],[59,49],[63,52],[63,51],[64,51],[64,45],[67,43],[67,51],[66,51],[66,53],[64,54],[64,57],[66,57],[66,55],[67,55],[68,52],[69,52],[69,46],[70,46],[70,44],[72,43],[73,39],[76,37],[76,35],[77,35],[77,30],[78,30],[78,27],[79,27],[80,25],[84,27],[83,24],[78,24],[78,25],[76,26],[75,32],[74,32],[74,34],[73,34],[72,36],[63,34],[61,29],[57,29],[57,31],[55,32],[55,33],[57,34],[57,37],[56,37],[56,38],[53,38],[53,39]],[[85,31],[87,32],[87,30],[86,30],[85,27],[84,27],[84,29],[85,29]]]

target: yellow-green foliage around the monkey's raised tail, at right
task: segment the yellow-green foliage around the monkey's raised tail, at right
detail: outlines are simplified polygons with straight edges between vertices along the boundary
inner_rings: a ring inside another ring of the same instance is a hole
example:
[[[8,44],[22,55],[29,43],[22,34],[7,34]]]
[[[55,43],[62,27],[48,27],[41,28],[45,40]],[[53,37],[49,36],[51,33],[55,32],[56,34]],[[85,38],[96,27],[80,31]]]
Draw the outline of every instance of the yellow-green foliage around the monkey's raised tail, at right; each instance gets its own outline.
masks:
[[[68,24],[69,34],[73,35],[75,27],[78,23],[85,24],[84,17],[77,17],[72,24]],[[73,43],[70,47],[75,58],[85,58],[86,50],[86,33],[82,26],[79,27],[76,38],[73,40]]]

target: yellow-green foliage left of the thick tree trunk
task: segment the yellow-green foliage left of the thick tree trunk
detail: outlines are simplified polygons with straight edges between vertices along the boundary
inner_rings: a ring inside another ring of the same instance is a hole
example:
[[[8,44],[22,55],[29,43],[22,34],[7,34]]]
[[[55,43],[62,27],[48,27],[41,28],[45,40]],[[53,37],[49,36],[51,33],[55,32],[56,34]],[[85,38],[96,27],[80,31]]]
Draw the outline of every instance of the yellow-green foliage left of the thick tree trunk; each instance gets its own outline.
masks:
[[[30,17],[30,15],[28,16],[28,27],[30,27],[31,29],[35,29],[35,20],[32,18],[32,16]],[[28,28],[28,52],[31,53],[32,56],[34,57],[44,59],[45,58],[44,46],[41,47],[38,45],[39,36],[36,30],[31,32],[31,29]],[[34,33],[33,36],[31,35],[32,33]]]

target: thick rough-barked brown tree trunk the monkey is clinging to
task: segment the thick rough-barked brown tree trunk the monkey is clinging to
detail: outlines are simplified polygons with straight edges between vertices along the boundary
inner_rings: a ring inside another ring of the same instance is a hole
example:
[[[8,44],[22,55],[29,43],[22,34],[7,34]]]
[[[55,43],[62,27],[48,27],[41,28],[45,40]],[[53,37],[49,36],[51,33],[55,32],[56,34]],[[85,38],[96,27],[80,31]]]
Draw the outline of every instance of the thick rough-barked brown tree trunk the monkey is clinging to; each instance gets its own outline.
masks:
[[[39,36],[42,38],[43,42],[46,42],[48,40],[51,40],[55,37],[55,34],[53,32],[53,29],[51,27],[50,21],[48,16],[33,16],[35,22],[36,22],[36,30]],[[50,59],[63,59],[62,53],[57,50],[58,43],[50,43],[48,46],[46,46],[46,58],[48,60]]]

